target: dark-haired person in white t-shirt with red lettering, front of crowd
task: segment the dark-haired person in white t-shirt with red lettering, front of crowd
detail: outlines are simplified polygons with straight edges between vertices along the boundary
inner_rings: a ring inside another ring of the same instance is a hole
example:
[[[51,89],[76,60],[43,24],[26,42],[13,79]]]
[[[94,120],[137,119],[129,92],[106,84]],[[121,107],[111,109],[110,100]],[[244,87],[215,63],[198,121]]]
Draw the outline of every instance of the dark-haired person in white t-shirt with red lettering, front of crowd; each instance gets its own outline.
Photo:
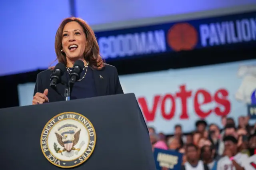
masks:
[[[244,170],[243,162],[248,156],[238,152],[238,140],[234,136],[225,136],[223,141],[225,150],[217,163],[217,170]]]

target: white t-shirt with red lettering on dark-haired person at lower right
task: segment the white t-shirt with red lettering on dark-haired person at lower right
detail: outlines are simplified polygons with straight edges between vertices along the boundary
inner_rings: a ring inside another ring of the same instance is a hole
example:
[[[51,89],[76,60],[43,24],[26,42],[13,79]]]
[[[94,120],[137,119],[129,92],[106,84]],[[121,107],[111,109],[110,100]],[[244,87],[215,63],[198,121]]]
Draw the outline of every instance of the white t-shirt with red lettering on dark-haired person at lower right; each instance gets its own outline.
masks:
[[[248,159],[247,154],[238,153],[234,156],[236,163],[242,167],[245,166],[246,159]],[[228,156],[224,156],[218,161],[217,170],[236,170],[236,167],[232,164],[232,161]]]

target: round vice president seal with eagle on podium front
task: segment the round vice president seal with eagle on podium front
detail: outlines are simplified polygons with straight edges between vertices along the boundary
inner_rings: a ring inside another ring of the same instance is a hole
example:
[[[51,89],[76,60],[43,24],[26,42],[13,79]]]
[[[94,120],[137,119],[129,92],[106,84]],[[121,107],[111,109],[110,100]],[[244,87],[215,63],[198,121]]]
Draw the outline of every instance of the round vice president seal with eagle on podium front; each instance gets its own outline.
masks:
[[[40,143],[48,161],[61,168],[72,168],[90,157],[95,147],[96,133],[86,117],[65,112],[56,115],[45,125]]]

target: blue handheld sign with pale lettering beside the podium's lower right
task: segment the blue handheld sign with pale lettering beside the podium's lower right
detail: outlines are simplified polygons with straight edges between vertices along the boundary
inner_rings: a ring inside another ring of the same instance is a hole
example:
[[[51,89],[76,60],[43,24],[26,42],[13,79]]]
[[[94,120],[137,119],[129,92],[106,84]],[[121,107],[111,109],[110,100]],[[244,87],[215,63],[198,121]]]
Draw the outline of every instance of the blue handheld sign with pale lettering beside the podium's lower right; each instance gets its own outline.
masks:
[[[162,170],[180,170],[182,164],[182,155],[175,150],[154,149],[154,158],[156,169]]]

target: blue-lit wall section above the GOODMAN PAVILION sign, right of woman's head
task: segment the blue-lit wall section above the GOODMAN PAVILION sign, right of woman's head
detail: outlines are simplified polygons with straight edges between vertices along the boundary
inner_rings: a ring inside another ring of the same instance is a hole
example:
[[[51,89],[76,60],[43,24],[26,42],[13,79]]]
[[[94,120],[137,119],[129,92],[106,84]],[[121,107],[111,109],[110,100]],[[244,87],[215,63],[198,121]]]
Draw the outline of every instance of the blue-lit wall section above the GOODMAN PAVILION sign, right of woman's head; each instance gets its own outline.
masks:
[[[100,29],[97,25],[104,25],[106,29],[111,25],[111,28],[129,27],[140,22],[156,24],[163,16],[180,19],[182,15],[187,19],[195,13],[201,13],[202,18],[227,11],[236,13],[241,12],[243,6],[250,8],[253,4],[256,5],[255,0],[76,0],[78,17],[86,18],[97,30]]]

